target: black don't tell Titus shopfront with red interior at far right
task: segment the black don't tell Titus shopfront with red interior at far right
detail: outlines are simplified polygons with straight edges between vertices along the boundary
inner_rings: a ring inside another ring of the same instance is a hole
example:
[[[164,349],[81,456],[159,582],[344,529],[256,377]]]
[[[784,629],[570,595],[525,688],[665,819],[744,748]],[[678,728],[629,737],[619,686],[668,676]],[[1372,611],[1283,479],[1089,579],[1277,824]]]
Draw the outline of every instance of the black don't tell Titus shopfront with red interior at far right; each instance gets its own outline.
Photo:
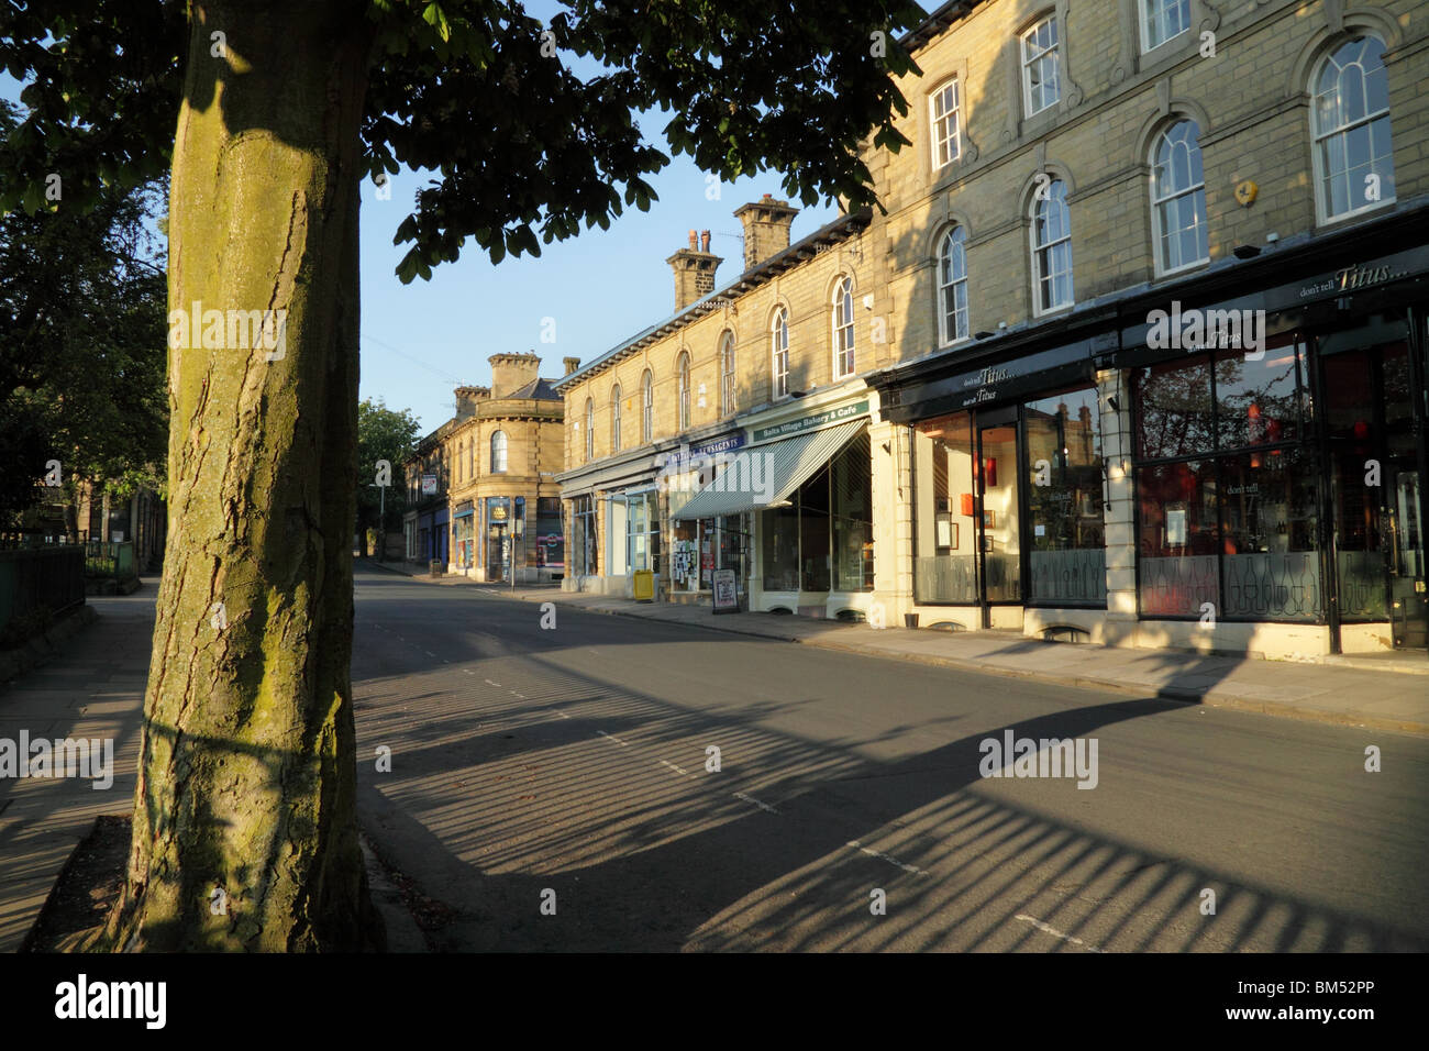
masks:
[[[1429,645],[1426,270],[1418,247],[1182,307],[1240,312],[1249,346],[1123,332],[1143,629],[1278,655]]]

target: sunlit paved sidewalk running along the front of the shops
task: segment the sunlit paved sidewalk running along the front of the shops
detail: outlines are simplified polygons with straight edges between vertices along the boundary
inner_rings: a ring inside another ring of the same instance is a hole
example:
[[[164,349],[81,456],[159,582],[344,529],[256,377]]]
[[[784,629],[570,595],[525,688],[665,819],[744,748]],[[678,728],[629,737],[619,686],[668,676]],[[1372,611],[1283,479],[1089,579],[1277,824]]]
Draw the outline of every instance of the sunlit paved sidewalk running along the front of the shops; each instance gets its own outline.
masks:
[[[559,588],[503,588],[464,576],[432,578],[407,568],[374,568],[414,581],[464,585],[492,598],[554,602],[592,612],[683,623],[707,631],[755,635],[806,646],[842,649],[865,656],[960,671],[1040,679],[1066,686],[1113,689],[1137,696],[1235,708],[1315,722],[1429,735],[1429,678],[1405,673],[1419,656],[1408,656],[1399,671],[1345,663],[1293,663],[1253,656],[1195,653],[1179,649],[1120,649],[1113,646],[1043,642],[1016,632],[946,632],[933,629],[870,628],[842,621],[816,621],[773,613],[720,613],[709,605],[634,602],[609,595],[582,595]]]

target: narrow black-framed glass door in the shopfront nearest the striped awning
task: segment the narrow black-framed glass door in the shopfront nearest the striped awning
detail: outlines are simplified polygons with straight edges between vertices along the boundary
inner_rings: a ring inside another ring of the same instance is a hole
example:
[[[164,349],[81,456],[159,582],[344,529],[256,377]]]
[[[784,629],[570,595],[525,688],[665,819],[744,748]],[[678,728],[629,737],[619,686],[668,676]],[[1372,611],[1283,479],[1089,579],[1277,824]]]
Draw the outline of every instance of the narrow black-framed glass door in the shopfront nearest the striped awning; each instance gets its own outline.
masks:
[[[983,626],[989,603],[1022,601],[1017,408],[977,413],[977,532]]]

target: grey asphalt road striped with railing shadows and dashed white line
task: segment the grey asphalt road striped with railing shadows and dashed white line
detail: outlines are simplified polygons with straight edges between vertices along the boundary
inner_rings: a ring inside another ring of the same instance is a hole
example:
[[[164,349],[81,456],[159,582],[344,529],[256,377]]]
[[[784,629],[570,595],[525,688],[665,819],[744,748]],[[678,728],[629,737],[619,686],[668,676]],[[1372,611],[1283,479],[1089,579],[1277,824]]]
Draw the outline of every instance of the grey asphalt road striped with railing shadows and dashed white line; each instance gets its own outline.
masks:
[[[360,819],[439,949],[1429,948],[1423,738],[380,571],[356,603]],[[982,776],[1006,729],[1095,739],[1096,786]]]

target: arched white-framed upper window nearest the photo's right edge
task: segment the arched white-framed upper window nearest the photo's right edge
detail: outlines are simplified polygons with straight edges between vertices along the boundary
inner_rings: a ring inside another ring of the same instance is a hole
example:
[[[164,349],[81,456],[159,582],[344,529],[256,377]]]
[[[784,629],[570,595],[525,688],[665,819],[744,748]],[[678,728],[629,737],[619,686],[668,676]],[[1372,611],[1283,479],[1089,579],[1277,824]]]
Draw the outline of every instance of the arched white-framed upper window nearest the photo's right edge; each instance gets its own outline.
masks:
[[[1340,44],[1319,66],[1310,124],[1322,219],[1395,199],[1385,44],[1370,36]]]

